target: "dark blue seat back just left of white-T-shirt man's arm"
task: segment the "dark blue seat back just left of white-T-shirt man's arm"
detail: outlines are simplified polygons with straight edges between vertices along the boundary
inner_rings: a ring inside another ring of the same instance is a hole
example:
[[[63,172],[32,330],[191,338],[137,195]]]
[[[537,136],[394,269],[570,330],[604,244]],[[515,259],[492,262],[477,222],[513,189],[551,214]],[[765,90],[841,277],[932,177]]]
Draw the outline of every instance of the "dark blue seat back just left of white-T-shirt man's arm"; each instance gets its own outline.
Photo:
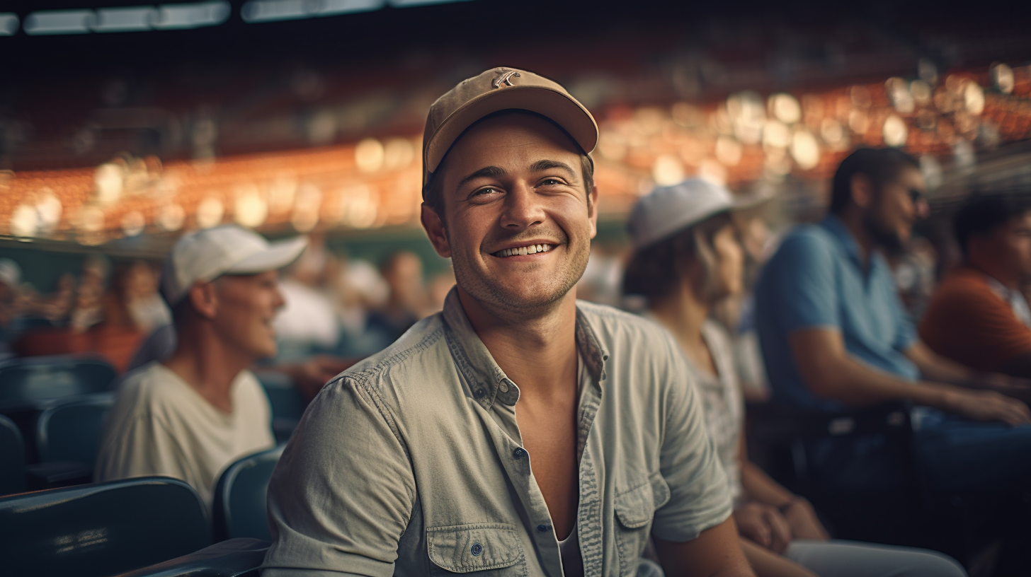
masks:
[[[104,417],[113,404],[113,396],[95,395],[44,410],[36,421],[39,461],[71,461],[92,467],[100,448]]]

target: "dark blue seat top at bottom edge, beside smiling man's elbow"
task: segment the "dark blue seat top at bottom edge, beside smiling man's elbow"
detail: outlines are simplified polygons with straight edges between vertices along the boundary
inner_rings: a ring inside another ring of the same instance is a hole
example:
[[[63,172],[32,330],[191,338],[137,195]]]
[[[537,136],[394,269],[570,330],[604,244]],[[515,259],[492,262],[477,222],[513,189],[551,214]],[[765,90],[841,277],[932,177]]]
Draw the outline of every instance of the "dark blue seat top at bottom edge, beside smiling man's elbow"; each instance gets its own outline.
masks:
[[[258,577],[268,541],[230,539],[119,577]]]

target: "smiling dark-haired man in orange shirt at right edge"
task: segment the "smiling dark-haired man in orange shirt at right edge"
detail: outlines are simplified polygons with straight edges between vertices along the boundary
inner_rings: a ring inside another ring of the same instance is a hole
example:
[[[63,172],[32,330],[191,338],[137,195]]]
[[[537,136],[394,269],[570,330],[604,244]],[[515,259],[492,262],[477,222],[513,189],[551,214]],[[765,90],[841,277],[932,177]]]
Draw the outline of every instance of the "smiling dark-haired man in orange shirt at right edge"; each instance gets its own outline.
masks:
[[[974,195],[954,223],[963,263],[920,325],[935,352],[979,371],[1031,377],[1031,198]]]

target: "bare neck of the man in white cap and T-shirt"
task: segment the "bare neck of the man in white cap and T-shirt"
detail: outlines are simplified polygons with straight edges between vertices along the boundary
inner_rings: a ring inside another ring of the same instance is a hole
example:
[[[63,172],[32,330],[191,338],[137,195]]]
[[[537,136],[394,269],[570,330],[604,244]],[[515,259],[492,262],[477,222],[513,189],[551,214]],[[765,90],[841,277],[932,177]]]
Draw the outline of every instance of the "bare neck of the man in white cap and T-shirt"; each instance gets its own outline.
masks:
[[[233,381],[254,361],[231,350],[203,328],[184,328],[178,332],[175,352],[164,365],[211,406],[231,413]]]

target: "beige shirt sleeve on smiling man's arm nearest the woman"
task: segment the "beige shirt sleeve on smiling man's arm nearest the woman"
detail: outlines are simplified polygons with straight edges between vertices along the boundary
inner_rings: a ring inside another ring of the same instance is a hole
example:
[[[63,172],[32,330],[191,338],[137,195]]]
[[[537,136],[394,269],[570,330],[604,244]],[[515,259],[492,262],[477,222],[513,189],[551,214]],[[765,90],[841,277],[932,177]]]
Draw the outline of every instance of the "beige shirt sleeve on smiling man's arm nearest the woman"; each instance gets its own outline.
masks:
[[[727,476],[705,428],[701,400],[683,355],[667,339],[665,430],[659,468],[670,498],[655,513],[652,533],[684,542],[727,520],[732,512]]]

